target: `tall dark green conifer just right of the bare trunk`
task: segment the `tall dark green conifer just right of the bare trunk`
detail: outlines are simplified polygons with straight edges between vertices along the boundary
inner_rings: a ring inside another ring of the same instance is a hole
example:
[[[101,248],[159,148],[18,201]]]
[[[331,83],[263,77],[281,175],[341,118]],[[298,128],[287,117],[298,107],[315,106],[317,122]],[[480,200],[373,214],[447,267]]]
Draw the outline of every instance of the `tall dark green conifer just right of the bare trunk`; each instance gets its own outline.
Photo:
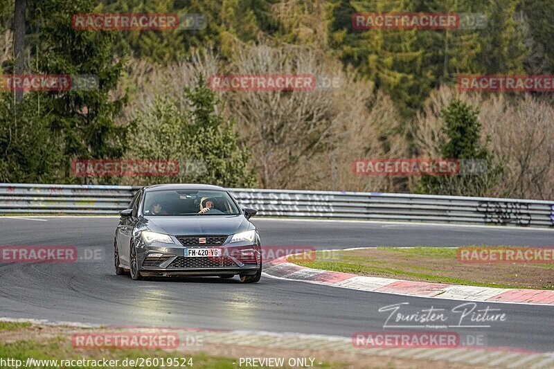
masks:
[[[63,138],[66,179],[74,159],[116,159],[123,154],[125,127],[114,119],[126,102],[113,98],[124,60],[114,55],[114,34],[102,30],[75,30],[73,14],[93,12],[93,0],[35,3],[39,29],[37,72],[90,75],[91,85],[71,91],[51,91],[41,101],[55,116],[55,134]],[[75,82],[75,80],[73,80]]]

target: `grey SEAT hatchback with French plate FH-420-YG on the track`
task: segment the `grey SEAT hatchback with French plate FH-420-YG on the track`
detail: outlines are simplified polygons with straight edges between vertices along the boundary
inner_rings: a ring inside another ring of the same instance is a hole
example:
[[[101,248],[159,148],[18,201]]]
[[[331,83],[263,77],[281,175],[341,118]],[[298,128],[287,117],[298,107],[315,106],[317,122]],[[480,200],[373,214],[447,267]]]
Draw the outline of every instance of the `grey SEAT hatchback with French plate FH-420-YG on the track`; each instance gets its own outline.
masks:
[[[240,208],[224,188],[167,184],[141,188],[120,211],[114,237],[118,276],[262,275],[260,235],[249,222],[257,210]]]

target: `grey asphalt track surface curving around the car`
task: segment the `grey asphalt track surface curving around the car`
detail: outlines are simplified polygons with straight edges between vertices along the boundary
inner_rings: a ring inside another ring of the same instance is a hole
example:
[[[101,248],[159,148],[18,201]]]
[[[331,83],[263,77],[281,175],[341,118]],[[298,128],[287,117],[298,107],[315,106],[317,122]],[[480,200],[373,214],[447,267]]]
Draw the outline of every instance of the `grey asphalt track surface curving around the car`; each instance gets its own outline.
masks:
[[[113,239],[118,219],[98,217],[0,217],[0,246],[101,247],[105,260],[73,263],[0,263],[0,316],[105,325],[204,327],[331,334],[382,332],[389,313],[378,309],[409,303],[404,313],[445,309],[460,301],[380,294],[262,277],[242,285],[219,278],[115,276]],[[377,222],[317,222],[253,219],[262,243],[337,249],[360,246],[459,246],[510,244],[552,246],[553,231]],[[490,347],[554,352],[554,307],[477,303],[501,309],[505,321],[488,328],[451,328],[483,334]],[[404,309],[404,307],[403,307]],[[472,323],[466,318],[463,323]],[[481,323],[483,324],[483,323]],[[413,330],[413,329],[412,329]],[[406,331],[406,329],[404,329]]]

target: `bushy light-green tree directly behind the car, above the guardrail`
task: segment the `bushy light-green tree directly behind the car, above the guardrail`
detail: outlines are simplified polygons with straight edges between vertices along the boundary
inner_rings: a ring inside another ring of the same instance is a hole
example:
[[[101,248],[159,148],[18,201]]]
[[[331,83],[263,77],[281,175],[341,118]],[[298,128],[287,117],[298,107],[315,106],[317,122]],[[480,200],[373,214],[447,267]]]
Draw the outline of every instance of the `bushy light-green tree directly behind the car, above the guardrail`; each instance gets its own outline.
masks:
[[[251,187],[256,176],[246,147],[239,147],[233,120],[216,111],[220,100],[201,78],[184,91],[190,110],[179,111],[177,100],[158,98],[132,123],[134,134],[129,158],[170,159],[193,163],[197,170],[181,171],[179,177],[157,177],[159,182],[198,182],[226,187]],[[199,169],[199,170],[198,170]],[[145,179],[148,181],[148,179]]]

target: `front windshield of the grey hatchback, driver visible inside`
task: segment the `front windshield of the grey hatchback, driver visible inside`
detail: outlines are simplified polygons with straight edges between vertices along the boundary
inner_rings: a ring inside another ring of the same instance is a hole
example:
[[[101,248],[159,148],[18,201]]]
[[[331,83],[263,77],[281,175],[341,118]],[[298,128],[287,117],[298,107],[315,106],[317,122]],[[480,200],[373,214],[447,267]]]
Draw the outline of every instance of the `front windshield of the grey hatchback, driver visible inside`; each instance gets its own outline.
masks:
[[[239,215],[235,201],[225,191],[159,190],[146,192],[145,216]]]

